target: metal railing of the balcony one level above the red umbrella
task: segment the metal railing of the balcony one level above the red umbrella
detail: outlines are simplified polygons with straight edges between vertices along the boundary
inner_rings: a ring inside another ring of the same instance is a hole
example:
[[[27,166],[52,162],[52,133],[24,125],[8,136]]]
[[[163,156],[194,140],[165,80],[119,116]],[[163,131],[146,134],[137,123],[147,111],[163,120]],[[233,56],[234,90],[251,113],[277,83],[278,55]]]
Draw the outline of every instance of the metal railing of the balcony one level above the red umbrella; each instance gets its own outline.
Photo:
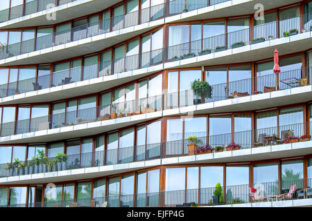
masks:
[[[44,88],[61,86],[64,84],[71,84],[73,82],[94,79],[96,77],[103,77],[105,75],[114,75],[116,73],[123,73],[128,70],[146,68],[148,66],[162,64],[164,62],[177,61],[189,57],[206,55],[211,52],[218,52],[220,50],[227,50],[229,48],[237,48],[247,44],[256,44],[268,39],[276,39],[279,37],[279,35],[271,36],[272,32],[270,30],[275,30],[276,32],[277,25],[283,26],[283,30],[286,30],[285,27],[288,27],[287,30],[292,30],[293,24],[296,23],[297,20],[302,20],[300,18],[302,17],[296,17],[283,21],[274,21],[263,24],[261,26],[255,26],[253,28],[247,28],[236,32],[229,32],[227,35],[218,35],[206,39],[191,41],[189,43],[169,46],[167,48],[142,52],[137,55],[130,55],[119,59],[103,61],[98,64],[61,70],[54,72],[51,75],[43,75],[40,77],[11,82],[9,84],[1,84],[0,97],[7,97],[18,93],[26,93],[29,91],[41,90]],[[305,26],[309,24],[312,25],[312,20],[308,23],[305,23]],[[297,26],[297,30],[300,30],[300,26]],[[250,36],[251,33],[254,33],[254,37],[257,38],[245,38],[245,36]],[[299,32],[293,30],[293,32],[289,31],[288,34],[285,35],[289,35],[289,33],[291,33],[291,35],[295,35]],[[282,35],[284,35],[284,32],[281,34],[281,36]],[[284,84],[284,86],[286,86],[286,84]]]

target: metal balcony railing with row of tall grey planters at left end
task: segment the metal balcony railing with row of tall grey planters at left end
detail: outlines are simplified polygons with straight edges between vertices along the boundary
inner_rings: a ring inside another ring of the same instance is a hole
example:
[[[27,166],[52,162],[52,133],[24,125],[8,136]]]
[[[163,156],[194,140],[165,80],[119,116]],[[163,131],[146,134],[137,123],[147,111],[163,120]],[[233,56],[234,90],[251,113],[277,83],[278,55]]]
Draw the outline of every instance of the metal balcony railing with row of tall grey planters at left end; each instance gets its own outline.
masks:
[[[25,162],[17,160],[17,162],[0,164],[0,177],[307,142],[311,140],[311,128],[312,122],[305,122],[198,137],[193,141],[174,140],[61,157],[37,158]]]

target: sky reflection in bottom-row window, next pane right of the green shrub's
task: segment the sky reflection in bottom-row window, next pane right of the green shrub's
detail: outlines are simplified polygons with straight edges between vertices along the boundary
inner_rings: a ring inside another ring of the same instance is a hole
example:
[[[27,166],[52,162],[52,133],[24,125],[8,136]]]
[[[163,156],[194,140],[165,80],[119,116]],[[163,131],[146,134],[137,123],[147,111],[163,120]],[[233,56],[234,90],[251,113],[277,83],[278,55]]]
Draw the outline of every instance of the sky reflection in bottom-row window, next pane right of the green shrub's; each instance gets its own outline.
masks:
[[[249,184],[249,166],[227,166],[227,186]]]

